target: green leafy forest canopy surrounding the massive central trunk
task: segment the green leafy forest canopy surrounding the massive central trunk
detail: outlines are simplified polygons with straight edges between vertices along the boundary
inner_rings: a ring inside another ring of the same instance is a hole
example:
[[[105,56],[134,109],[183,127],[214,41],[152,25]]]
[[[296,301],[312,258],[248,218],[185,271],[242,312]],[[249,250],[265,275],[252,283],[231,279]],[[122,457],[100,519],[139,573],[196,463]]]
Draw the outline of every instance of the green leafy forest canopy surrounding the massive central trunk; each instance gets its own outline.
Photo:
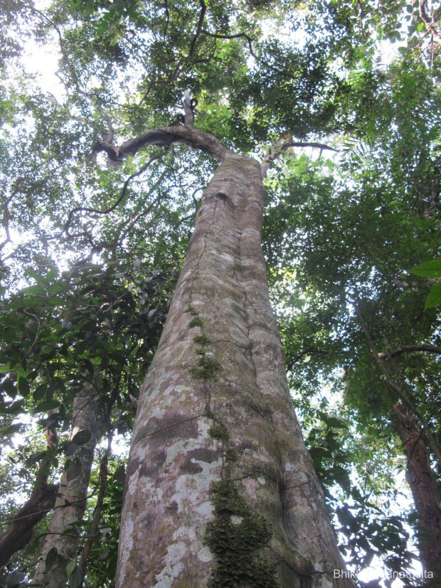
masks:
[[[217,165],[188,147],[185,91],[195,129],[268,169],[270,294],[345,559],[360,583],[378,574],[372,563],[427,564],[441,538],[412,457],[423,440],[439,503],[439,2],[0,6],[0,485],[12,546],[0,583],[32,580],[54,489],[80,475],[93,439],[67,576],[71,588],[113,585],[123,446]],[[58,57],[56,89],[26,66],[44,47]],[[146,141],[172,128],[181,143],[169,130]],[[75,436],[88,387],[99,416]],[[400,426],[415,430],[409,452]],[[41,516],[13,544],[24,508]]]

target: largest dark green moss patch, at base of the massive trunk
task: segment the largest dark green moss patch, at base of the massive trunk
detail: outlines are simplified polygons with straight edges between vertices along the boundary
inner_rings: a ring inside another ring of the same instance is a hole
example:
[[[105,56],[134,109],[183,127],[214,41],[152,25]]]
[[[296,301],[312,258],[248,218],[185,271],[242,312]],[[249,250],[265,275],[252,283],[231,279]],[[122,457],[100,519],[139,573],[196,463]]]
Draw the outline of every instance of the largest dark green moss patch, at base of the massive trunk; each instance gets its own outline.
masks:
[[[253,586],[276,588],[275,566],[258,550],[269,544],[272,528],[259,514],[252,513],[239,487],[232,480],[212,485],[215,519],[207,524],[205,542],[216,557],[209,588]],[[232,515],[241,517],[238,523]]]

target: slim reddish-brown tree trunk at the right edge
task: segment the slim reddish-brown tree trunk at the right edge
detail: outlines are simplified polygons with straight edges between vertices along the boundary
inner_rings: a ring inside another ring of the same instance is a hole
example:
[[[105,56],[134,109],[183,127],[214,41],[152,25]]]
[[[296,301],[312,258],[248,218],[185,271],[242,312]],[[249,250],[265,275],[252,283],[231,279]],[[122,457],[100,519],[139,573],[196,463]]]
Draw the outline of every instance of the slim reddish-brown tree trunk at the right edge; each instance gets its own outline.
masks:
[[[406,478],[412,491],[419,517],[418,547],[427,573],[441,579],[441,505],[430,470],[430,454],[426,443],[406,406],[393,406],[393,426],[402,440],[407,457]]]

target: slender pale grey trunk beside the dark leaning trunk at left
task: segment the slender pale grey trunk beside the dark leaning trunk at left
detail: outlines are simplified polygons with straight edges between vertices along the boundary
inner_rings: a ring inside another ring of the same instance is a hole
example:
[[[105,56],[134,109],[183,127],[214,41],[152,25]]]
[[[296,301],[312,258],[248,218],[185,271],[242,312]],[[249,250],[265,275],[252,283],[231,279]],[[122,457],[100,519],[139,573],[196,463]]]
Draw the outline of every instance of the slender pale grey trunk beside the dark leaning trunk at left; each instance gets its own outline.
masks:
[[[79,449],[69,457],[72,464],[75,460],[79,460],[77,462],[79,463],[79,473],[78,476],[69,479],[68,469],[61,477],[55,510],[42,547],[33,584],[40,584],[47,588],[64,588],[66,586],[68,579],[66,566],[76,559],[80,539],[75,523],[82,520],[86,507],[93,450],[96,443],[93,433],[95,427],[92,424],[95,422],[96,392],[93,386],[88,385],[74,400],[71,439],[76,433],[83,430],[91,431],[92,437],[85,445],[79,446]],[[51,557],[51,565],[46,566],[46,557],[52,549],[56,550],[55,560]]]

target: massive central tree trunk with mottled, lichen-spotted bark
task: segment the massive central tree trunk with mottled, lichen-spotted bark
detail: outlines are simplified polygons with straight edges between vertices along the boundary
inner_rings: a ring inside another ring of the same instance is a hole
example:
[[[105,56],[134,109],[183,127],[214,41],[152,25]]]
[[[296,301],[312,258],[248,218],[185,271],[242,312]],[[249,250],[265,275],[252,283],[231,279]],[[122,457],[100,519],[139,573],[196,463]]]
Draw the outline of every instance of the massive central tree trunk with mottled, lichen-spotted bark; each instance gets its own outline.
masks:
[[[352,585],[289,396],[264,199],[233,153],[203,195],[139,398],[119,588]]]

